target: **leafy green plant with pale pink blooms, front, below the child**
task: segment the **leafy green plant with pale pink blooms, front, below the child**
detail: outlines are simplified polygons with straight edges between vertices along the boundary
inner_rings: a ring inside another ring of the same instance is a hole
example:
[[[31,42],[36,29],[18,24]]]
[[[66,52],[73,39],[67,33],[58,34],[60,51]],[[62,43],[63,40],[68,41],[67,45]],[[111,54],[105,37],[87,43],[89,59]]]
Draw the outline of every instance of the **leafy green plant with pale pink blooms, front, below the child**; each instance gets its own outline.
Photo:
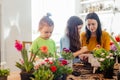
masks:
[[[53,73],[50,70],[50,58],[46,59],[37,59],[34,63],[35,72],[33,75],[35,76],[32,80],[53,80]]]

